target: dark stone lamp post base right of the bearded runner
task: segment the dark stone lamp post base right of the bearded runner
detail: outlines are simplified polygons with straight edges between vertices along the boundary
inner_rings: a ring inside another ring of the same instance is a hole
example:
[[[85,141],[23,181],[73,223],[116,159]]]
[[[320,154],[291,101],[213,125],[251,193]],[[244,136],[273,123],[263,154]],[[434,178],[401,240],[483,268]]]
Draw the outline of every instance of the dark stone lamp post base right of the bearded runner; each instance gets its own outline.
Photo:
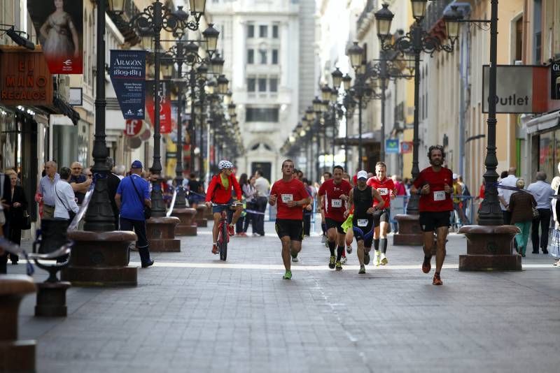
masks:
[[[520,271],[521,256],[513,249],[516,226],[462,226],[467,254],[459,256],[460,271]]]

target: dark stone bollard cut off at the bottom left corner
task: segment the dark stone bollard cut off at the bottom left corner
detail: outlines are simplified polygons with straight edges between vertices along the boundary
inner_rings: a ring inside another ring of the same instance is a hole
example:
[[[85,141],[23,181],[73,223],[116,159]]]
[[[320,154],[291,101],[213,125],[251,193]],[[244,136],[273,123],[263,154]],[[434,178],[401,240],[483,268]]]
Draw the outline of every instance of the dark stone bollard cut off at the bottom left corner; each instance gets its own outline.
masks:
[[[35,372],[35,341],[18,340],[18,312],[27,293],[35,291],[25,275],[0,276],[0,372]]]

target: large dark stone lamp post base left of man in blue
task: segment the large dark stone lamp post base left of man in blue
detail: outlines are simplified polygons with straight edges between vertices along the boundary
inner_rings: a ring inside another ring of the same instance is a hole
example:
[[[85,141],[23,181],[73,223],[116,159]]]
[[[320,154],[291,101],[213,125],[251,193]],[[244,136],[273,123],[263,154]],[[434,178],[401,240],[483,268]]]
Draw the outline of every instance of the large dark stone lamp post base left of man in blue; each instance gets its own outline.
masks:
[[[74,245],[62,280],[72,286],[137,286],[138,268],[128,265],[134,232],[69,231],[68,238]]]

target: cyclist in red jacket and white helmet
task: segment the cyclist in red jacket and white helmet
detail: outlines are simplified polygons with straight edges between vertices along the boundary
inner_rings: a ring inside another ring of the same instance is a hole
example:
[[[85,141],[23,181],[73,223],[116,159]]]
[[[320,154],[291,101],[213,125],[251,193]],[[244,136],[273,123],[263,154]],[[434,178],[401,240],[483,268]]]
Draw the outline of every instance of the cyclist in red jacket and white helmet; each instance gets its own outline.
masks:
[[[230,161],[223,160],[218,163],[218,169],[220,173],[212,177],[206,192],[206,205],[207,207],[212,207],[212,216],[214,217],[212,254],[218,254],[216,241],[218,240],[218,227],[220,226],[222,212],[224,210],[228,212],[228,222],[230,223],[228,225],[228,233],[230,235],[235,235],[235,223],[237,223],[237,219],[241,215],[241,186],[239,186],[239,182],[237,182],[233,175],[233,164]],[[232,190],[235,190],[237,198],[235,214],[230,209],[235,201],[232,197]]]

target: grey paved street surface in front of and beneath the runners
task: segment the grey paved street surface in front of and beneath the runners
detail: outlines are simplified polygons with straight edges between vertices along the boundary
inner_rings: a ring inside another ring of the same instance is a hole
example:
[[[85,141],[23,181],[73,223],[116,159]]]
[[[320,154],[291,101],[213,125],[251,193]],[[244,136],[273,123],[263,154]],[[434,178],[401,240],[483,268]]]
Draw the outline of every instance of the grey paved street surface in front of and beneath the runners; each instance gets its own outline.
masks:
[[[465,239],[450,235],[444,286],[433,286],[419,247],[391,237],[389,264],[358,275],[356,244],[335,272],[315,236],[286,281],[272,223],[267,232],[233,237],[223,263],[199,228],[181,253],[153,254],[135,288],[69,289],[66,318],[34,318],[29,295],[20,337],[37,339],[39,372],[560,369],[560,269],[547,256],[527,254],[522,272],[458,272]]]

